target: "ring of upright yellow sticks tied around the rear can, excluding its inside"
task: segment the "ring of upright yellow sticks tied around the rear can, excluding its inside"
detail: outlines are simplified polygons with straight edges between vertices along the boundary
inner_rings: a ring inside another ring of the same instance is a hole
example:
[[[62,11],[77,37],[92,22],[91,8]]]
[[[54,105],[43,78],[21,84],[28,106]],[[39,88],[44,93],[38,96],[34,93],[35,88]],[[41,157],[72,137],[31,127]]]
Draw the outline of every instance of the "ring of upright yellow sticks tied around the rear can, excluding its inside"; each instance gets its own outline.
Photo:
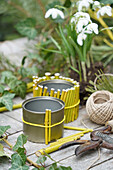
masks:
[[[46,81],[46,80],[65,80],[68,82],[71,82],[73,84],[73,87],[68,89],[63,89],[62,91],[60,89],[57,89],[55,91],[54,88],[51,88],[50,92],[48,91],[48,87],[43,87],[42,85],[39,85],[40,82]],[[51,76],[51,73],[47,72],[45,73],[44,77],[37,77],[33,76],[33,97],[38,96],[50,96],[50,97],[56,97],[58,99],[61,99],[65,103],[65,109],[64,109],[64,115],[65,115],[65,122],[69,123],[77,119],[78,117],[78,111],[79,111],[79,89],[80,85],[77,81],[74,81],[71,78],[62,77],[59,73],[55,73],[54,76]]]

